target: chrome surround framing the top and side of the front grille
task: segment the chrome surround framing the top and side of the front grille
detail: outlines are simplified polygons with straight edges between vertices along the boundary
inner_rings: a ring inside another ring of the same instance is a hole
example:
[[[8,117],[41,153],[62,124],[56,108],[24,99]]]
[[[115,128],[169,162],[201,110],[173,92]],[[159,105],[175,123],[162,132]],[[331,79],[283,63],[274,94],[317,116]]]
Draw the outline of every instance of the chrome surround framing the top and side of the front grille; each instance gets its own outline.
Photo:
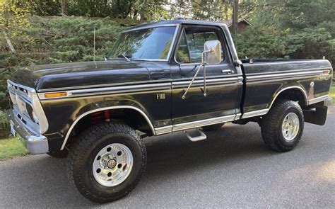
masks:
[[[37,115],[39,133],[40,134],[45,133],[47,129],[49,128],[49,123],[47,121],[47,117],[45,116],[45,112],[43,111],[42,105],[40,103],[40,99],[38,98],[35,89],[30,88],[28,86],[16,84],[15,82],[11,80],[7,80],[7,85],[8,85],[8,91],[11,91],[12,94],[14,93],[16,94],[19,92],[18,94],[20,94],[20,96],[25,98],[26,101],[28,101],[28,103],[30,103],[30,106],[33,107],[33,111],[35,111]],[[25,96],[22,92],[13,89],[13,86],[18,86],[18,88],[25,89],[27,91],[27,94],[26,94],[27,96]],[[32,123],[33,123],[33,120],[32,120]]]

